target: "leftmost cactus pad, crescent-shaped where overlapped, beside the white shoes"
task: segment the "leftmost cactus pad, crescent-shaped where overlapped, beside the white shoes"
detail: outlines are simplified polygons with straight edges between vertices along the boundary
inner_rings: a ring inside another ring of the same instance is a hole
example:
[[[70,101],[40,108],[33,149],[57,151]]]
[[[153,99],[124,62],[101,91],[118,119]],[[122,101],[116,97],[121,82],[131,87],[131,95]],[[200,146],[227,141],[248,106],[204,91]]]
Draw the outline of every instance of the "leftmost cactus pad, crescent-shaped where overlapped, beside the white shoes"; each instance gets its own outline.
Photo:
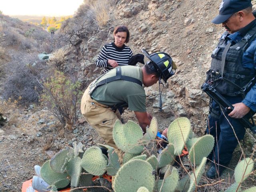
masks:
[[[49,185],[54,184],[57,181],[60,181],[62,179],[66,179],[68,174],[66,173],[56,173],[54,170],[52,170],[50,166],[50,160],[46,161],[40,170],[40,175],[42,179],[48,183]]]

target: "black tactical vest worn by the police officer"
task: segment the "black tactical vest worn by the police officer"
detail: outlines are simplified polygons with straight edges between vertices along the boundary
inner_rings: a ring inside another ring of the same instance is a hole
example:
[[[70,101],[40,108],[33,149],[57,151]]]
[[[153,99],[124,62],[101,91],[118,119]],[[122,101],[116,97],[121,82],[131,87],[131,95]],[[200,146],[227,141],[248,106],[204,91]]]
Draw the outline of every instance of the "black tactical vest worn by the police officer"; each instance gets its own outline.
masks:
[[[214,81],[221,77],[222,73],[222,53],[227,46],[227,36],[222,36],[218,46],[212,52],[212,63],[211,63],[211,81]],[[251,70],[242,66],[242,56],[244,51],[248,48],[248,45],[256,36],[256,26],[252,28],[242,40],[231,45],[226,54],[226,61],[224,65],[223,77],[230,80],[234,84],[243,88],[255,75],[250,75]],[[215,72],[218,72],[217,74]],[[215,89],[222,95],[237,96],[239,89],[234,86],[230,86],[225,81],[219,81],[214,84]]]

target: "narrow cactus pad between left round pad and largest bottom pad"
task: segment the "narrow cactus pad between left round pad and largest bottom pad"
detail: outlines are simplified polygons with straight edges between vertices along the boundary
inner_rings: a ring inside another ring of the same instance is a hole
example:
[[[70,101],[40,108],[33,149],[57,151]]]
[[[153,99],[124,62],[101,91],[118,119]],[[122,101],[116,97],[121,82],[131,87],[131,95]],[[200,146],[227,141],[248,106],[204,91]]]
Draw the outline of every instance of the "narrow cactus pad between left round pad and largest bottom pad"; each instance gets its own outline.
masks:
[[[114,148],[108,150],[108,175],[114,176],[120,168],[120,163],[118,162],[118,155],[114,152]]]

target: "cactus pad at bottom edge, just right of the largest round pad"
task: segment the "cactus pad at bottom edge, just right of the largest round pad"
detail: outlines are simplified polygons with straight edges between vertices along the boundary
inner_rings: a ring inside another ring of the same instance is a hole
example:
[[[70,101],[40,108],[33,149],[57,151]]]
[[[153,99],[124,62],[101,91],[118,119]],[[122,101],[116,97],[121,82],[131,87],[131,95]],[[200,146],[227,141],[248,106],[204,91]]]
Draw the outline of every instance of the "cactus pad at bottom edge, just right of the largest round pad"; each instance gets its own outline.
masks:
[[[176,186],[178,185],[179,175],[176,168],[172,169],[172,174],[169,175],[169,169],[164,175],[164,180],[157,181],[157,190],[158,191],[168,191],[174,192]]]

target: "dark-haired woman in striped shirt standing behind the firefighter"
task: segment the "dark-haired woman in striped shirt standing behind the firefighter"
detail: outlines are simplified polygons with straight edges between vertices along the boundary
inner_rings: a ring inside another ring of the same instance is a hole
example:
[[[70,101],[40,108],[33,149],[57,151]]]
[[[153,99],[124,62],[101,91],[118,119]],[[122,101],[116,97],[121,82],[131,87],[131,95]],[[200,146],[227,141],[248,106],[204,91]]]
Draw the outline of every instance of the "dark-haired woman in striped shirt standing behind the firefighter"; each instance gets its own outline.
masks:
[[[130,32],[126,26],[118,26],[114,30],[114,42],[104,45],[95,64],[104,68],[104,73],[116,66],[128,65],[132,57],[132,50],[124,43],[128,43]]]

